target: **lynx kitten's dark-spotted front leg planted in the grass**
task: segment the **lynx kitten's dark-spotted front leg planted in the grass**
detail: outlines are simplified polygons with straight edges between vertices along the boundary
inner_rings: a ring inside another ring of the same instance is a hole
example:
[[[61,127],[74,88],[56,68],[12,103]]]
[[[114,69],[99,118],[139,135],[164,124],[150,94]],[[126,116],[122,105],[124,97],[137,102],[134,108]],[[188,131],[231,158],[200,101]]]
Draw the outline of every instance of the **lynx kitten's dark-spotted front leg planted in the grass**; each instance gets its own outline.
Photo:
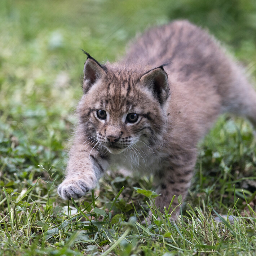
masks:
[[[164,207],[169,207],[169,204],[173,200],[172,209],[178,206],[178,196],[182,196],[182,201],[185,200],[187,190],[190,187],[191,179],[194,175],[194,167],[196,163],[195,150],[184,151],[170,154],[168,159],[165,159],[163,169],[158,173],[160,196],[156,198],[156,206],[160,207],[162,212]],[[176,208],[175,214],[172,215],[172,219],[175,220],[178,216],[180,207]]]

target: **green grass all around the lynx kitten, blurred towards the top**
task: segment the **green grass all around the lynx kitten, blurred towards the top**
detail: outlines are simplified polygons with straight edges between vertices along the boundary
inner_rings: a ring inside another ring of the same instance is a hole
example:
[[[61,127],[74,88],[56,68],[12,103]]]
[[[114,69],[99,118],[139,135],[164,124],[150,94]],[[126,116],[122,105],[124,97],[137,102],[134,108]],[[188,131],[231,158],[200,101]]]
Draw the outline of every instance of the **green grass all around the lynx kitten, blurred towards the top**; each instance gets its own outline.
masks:
[[[255,255],[256,141],[242,119],[222,116],[199,145],[176,223],[154,206],[151,176],[113,171],[81,200],[57,195],[80,48],[112,61],[137,32],[175,18],[208,28],[255,82],[254,0],[0,1],[0,255]]]

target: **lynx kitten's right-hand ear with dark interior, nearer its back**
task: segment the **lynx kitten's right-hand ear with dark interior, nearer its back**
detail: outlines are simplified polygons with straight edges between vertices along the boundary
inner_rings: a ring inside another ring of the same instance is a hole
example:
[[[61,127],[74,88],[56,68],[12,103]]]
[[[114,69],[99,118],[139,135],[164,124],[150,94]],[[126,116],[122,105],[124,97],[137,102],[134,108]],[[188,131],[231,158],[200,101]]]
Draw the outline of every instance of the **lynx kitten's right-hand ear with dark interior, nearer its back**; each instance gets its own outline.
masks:
[[[159,101],[160,105],[165,103],[169,96],[169,85],[168,76],[163,66],[148,71],[141,77],[140,83],[144,84],[153,92],[154,97]]]

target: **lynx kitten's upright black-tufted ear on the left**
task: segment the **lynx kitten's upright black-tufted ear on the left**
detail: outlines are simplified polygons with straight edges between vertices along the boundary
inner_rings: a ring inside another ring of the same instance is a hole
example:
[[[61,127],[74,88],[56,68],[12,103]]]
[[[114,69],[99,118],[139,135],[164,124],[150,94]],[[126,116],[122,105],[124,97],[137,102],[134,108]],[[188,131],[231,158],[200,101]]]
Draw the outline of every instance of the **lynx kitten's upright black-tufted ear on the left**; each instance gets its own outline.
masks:
[[[87,54],[87,53],[86,53]],[[83,92],[87,93],[91,86],[106,73],[106,67],[87,54],[88,58],[84,63]]]

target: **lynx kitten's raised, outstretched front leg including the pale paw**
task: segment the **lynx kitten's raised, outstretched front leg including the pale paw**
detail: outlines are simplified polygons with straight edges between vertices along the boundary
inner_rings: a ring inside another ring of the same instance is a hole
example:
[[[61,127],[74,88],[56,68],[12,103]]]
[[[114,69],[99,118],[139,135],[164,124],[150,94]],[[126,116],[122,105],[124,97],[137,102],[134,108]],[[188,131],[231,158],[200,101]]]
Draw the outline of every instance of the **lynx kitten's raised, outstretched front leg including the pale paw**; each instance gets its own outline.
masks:
[[[77,199],[93,189],[105,171],[106,160],[89,146],[74,144],[70,150],[65,180],[58,187],[58,194],[63,199]]]

